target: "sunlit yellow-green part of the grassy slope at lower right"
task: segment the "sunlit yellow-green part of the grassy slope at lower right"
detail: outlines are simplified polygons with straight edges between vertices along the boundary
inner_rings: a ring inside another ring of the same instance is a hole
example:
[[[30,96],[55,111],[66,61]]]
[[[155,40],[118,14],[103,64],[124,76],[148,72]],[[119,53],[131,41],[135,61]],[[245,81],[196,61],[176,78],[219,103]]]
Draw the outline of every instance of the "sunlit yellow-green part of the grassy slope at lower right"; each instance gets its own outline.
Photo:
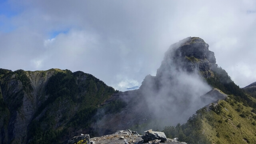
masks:
[[[220,100],[218,106],[220,112],[210,110],[202,119],[207,138],[215,144],[255,144],[256,114],[251,112],[252,108],[232,98]]]

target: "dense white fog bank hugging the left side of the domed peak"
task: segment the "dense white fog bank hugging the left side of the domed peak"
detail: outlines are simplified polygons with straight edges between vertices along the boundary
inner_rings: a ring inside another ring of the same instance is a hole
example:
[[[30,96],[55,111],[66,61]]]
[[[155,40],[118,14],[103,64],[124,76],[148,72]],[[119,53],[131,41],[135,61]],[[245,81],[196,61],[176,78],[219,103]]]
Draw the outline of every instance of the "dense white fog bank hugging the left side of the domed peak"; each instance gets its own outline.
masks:
[[[153,81],[148,78],[141,86],[148,110],[156,119],[164,120],[162,127],[185,123],[196,110],[207,105],[200,96],[212,89],[200,74],[199,68],[188,71],[181,54],[181,57],[175,56],[179,52],[178,48],[188,39],[172,44],[156,76],[152,77]]]

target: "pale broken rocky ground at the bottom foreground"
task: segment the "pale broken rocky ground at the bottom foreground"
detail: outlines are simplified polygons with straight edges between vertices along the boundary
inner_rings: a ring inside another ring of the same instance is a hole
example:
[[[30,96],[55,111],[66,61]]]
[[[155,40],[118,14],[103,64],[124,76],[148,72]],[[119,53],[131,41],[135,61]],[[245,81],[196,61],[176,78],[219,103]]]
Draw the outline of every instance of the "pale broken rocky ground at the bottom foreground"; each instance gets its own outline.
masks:
[[[164,132],[156,132],[152,130],[145,131],[143,136],[131,130],[119,130],[114,134],[90,138],[88,134],[75,136],[68,144],[186,144],[186,142],[178,142],[178,138],[166,138]]]

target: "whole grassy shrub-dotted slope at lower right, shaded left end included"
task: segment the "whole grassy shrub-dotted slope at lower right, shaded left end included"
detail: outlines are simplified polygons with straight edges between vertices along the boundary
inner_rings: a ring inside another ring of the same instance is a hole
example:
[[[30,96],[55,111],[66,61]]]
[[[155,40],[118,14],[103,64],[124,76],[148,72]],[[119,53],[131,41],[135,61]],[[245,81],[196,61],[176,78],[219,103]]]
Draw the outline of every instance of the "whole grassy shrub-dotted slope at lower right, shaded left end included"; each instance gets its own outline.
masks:
[[[255,144],[256,114],[234,97],[202,108],[186,124],[164,129],[169,138],[190,144]]]

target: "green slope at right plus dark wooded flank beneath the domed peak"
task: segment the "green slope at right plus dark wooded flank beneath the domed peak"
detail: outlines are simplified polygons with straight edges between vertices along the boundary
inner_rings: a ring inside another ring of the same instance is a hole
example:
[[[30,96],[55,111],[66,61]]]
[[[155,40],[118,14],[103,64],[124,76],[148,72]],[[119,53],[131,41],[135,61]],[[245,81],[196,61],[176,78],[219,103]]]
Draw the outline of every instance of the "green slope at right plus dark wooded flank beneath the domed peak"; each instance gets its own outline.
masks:
[[[198,110],[186,124],[166,127],[165,134],[191,144],[255,144],[256,100],[222,68],[214,68],[212,73],[207,82],[229,94],[228,98]]]

